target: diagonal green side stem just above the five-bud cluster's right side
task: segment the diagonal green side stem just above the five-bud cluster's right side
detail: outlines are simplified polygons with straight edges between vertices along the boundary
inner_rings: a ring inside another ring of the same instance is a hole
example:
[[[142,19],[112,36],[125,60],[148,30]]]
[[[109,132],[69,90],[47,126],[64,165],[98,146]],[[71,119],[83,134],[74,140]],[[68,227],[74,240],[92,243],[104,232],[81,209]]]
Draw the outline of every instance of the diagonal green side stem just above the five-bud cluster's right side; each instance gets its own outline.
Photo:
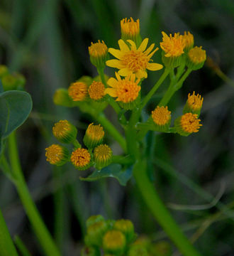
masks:
[[[113,137],[113,139],[116,139],[116,141],[121,145],[123,148],[123,151],[127,151],[127,146],[126,146],[126,140],[123,138],[123,136],[118,132],[116,127],[111,124],[111,122],[106,119],[104,114],[98,114],[97,116],[94,115],[94,118],[101,124],[103,127],[107,130],[109,134]]]

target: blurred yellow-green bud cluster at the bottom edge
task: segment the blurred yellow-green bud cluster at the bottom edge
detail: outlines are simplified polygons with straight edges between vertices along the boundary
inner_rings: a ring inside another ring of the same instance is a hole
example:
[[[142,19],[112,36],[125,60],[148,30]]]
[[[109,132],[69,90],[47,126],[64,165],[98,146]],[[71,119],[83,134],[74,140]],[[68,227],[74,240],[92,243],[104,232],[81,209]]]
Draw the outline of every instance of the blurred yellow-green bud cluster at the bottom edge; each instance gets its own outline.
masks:
[[[87,235],[82,256],[169,256],[172,248],[168,242],[152,243],[147,237],[139,237],[130,220],[105,220],[101,215],[87,220]]]

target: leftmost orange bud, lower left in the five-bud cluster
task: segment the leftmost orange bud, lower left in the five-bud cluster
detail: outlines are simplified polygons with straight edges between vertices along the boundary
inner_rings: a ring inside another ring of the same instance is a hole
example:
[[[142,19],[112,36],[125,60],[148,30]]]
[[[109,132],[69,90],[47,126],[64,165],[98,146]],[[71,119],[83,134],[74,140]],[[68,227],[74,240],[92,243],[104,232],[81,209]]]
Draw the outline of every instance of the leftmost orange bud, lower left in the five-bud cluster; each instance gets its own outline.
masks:
[[[50,164],[62,166],[68,160],[69,152],[64,146],[58,144],[52,144],[45,149],[46,161]]]

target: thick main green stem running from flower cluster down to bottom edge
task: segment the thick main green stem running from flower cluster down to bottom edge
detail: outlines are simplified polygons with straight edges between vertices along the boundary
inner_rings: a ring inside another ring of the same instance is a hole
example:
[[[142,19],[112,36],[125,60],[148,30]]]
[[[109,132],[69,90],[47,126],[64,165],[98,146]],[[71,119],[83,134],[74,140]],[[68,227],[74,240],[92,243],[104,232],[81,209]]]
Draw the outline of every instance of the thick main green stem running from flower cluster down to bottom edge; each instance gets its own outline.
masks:
[[[175,245],[177,245],[180,252],[182,252],[182,255],[201,256],[191,245],[191,242],[189,242],[189,240],[184,236],[179,225],[174,222],[169,211],[165,208],[165,205],[162,203],[154,186],[147,176],[146,168],[147,164],[145,160],[138,161],[134,166],[133,175],[147,207],[150,208],[155,219],[160,223],[160,225],[162,225],[162,228],[165,230],[169,238]]]

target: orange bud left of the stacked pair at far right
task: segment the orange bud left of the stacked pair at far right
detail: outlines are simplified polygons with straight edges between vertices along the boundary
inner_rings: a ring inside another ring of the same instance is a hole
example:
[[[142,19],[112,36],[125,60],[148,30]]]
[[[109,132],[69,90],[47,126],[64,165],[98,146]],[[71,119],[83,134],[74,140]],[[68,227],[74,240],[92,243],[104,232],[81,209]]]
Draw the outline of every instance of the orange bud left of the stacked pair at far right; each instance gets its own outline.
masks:
[[[167,107],[157,106],[152,111],[152,120],[158,132],[167,132],[171,124],[171,112]]]

